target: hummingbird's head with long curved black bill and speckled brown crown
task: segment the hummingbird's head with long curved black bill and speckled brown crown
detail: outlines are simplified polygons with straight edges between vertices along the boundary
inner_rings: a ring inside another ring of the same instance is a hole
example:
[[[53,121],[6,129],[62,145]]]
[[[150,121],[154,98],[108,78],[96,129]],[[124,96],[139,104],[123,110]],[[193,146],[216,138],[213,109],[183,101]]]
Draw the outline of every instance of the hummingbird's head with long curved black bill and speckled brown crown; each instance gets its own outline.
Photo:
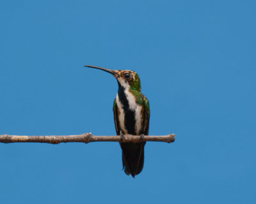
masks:
[[[141,91],[140,77],[135,71],[131,70],[113,70],[107,68],[100,68],[99,66],[85,65],[88,68],[101,69],[113,75],[119,86],[126,88],[135,89]]]

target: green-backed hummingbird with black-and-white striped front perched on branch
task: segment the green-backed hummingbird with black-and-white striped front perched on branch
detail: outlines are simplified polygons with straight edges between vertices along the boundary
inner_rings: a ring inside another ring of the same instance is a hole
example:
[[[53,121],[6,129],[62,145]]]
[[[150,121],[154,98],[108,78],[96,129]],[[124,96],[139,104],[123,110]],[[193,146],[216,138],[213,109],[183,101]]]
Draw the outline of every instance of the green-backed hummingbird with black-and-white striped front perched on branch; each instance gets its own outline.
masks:
[[[113,105],[116,135],[121,136],[121,141],[125,134],[140,135],[141,138],[141,142],[120,142],[123,170],[134,178],[143,169],[146,143],[143,142],[143,136],[148,135],[150,118],[149,102],[141,93],[140,77],[131,70],[113,70],[91,65],[86,67],[106,71],[117,80],[118,92]]]

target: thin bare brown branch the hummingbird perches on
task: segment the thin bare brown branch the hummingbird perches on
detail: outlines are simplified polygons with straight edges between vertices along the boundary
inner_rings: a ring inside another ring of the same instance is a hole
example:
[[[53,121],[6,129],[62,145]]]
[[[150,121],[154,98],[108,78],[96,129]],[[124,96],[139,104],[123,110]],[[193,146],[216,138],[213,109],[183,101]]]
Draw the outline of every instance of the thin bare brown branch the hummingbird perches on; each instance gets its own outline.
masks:
[[[175,135],[149,136],[145,135],[143,141],[155,142],[174,142]],[[94,136],[92,133],[84,133],[82,135],[51,135],[51,136],[18,136],[18,135],[0,135],[0,143],[13,142],[40,142],[58,144],[61,142],[141,142],[140,135],[124,135],[124,139],[120,135],[115,136]]]

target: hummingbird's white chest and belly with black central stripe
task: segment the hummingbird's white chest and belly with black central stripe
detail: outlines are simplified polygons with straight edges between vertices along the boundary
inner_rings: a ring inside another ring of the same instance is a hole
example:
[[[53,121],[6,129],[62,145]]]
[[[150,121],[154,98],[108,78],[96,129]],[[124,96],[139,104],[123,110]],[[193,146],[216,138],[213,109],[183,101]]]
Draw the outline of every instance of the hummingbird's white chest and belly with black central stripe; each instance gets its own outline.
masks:
[[[118,123],[124,134],[141,135],[143,119],[141,117],[142,107],[136,103],[135,96],[129,92],[118,92],[116,95],[118,108]]]

